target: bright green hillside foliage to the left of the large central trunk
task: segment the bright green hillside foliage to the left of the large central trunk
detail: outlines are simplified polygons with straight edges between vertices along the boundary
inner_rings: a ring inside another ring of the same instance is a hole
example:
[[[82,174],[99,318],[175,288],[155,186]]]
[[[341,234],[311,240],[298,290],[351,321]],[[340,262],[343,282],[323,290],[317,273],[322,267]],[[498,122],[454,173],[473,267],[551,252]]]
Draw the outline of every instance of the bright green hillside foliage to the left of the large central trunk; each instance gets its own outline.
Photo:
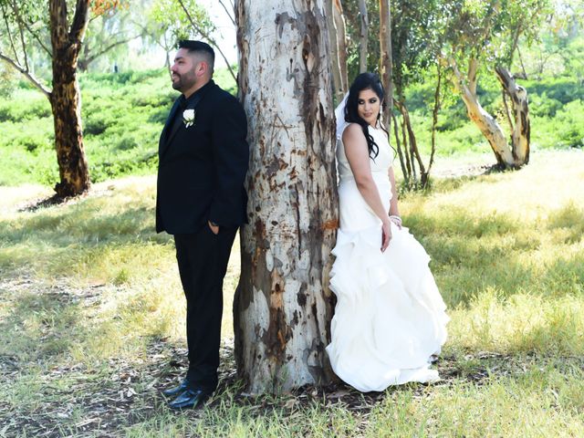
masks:
[[[215,82],[236,92],[225,69]],[[25,81],[0,100],[0,185],[57,183],[53,118]],[[91,181],[155,172],[164,120],[179,94],[166,69],[81,75],[81,114]]]

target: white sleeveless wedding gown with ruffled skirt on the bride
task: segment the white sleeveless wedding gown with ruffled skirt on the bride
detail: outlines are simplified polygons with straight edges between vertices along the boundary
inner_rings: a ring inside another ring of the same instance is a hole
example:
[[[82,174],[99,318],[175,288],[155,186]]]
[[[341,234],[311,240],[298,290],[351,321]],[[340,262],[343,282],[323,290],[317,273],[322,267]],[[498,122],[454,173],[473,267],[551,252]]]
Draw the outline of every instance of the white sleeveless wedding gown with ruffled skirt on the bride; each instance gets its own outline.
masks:
[[[389,212],[392,151],[383,130],[370,128],[379,154],[371,174]],[[330,288],[337,296],[328,358],[340,379],[359,391],[383,391],[408,381],[436,381],[430,359],[446,340],[448,317],[428,267],[408,229],[391,224],[381,252],[381,219],[361,196],[338,141],[340,228]]]

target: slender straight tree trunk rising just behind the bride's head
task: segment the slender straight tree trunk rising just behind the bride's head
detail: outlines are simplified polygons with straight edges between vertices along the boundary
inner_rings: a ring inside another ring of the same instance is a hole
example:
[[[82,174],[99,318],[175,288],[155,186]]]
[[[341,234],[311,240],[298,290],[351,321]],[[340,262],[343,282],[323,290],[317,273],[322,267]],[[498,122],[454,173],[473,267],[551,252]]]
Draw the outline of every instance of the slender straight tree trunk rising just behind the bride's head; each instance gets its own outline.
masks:
[[[393,70],[391,61],[391,8],[389,0],[380,0],[380,73],[385,88],[386,109],[382,121],[388,132],[391,131],[391,112],[393,111]]]

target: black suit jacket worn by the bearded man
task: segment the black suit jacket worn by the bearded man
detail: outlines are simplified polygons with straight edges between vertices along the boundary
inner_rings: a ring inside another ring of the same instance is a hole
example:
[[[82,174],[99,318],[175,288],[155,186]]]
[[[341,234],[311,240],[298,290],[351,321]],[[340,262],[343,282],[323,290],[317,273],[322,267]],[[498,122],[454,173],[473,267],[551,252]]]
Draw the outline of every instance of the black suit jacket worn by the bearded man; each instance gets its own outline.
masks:
[[[235,227],[246,222],[244,181],[249,147],[245,112],[239,101],[213,80],[197,93],[203,94],[195,108],[193,126],[187,128],[183,123],[177,99],[162,130],[156,195],[158,233],[195,233],[209,220]],[[174,117],[180,118],[180,125],[173,130]]]

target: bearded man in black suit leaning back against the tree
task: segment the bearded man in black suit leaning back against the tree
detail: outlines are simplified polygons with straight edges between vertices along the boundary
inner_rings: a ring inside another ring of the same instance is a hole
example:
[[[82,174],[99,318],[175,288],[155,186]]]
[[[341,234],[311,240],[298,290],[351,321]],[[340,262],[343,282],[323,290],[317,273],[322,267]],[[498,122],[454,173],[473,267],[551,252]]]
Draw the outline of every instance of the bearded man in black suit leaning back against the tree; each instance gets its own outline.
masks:
[[[189,370],[166,396],[196,407],[217,386],[223,279],[237,227],[245,223],[249,160],[241,104],[215,85],[214,50],[181,41],[172,65],[174,102],[159,145],[156,231],[174,235],[186,297]]]

